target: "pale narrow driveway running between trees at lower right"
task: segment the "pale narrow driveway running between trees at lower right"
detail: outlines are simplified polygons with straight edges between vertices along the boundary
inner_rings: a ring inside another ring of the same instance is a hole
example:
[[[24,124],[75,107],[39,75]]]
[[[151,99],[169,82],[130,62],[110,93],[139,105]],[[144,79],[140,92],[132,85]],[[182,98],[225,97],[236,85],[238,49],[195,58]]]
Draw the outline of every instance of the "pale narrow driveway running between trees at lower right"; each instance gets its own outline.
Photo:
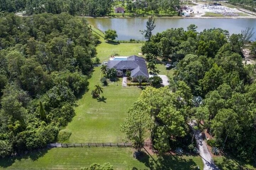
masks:
[[[189,124],[191,127],[194,127],[196,125],[196,122],[192,121]],[[197,130],[195,133],[195,139],[200,151],[200,156],[204,162],[204,170],[219,170],[218,167],[215,166],[212,155],[210,154],[204,141],[204,137],[199,130]]]

